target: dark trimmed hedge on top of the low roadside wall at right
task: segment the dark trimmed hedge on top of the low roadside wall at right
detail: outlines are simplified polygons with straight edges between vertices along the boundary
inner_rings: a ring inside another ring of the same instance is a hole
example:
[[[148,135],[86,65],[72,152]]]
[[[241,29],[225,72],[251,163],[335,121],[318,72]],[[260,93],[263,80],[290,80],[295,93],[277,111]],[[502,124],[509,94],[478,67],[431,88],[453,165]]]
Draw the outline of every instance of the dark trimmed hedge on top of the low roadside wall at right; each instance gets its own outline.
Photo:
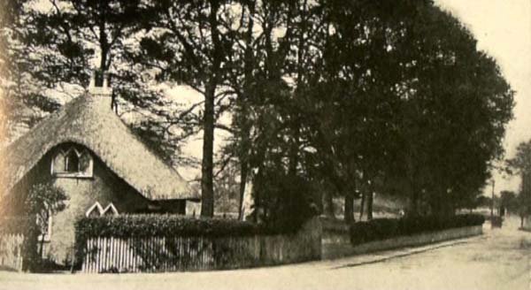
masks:
[[[376,218],[350,225],[350,241],[353,245],[358,245],[403,235],[482,225],[484,222],[485,217],[473,214],[453,217]]]

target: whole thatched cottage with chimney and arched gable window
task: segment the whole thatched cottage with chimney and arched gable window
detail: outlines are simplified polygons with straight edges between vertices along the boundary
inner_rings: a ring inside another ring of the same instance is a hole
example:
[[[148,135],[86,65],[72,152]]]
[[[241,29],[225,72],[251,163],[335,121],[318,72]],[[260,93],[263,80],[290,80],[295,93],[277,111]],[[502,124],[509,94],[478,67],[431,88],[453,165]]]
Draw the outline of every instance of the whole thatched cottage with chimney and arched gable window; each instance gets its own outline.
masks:
[[[185,214],[199,196],[112,111],[112,90],[94,82],[27,134],[0,151],[0,214],[23,215],[37,183],[65,190],[67,208],[52,217],[45,256],[72,257],[76,218],[125,213]]]

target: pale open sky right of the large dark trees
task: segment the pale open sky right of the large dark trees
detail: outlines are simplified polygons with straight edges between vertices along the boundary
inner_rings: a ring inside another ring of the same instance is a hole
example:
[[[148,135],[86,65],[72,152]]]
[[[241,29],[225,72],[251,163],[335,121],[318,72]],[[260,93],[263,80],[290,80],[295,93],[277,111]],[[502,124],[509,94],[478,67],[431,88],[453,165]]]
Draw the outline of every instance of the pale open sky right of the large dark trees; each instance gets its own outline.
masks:
[[[478,40],[478,49],[495,57],[516,91],[514,119],[504,140],[506,157],[521,141],[531,139],[531,0],[435,0],[451,11]],[[498,193],[518,191],[519,178],[495,174]],[[487,189],[490,193],[490,187]]]

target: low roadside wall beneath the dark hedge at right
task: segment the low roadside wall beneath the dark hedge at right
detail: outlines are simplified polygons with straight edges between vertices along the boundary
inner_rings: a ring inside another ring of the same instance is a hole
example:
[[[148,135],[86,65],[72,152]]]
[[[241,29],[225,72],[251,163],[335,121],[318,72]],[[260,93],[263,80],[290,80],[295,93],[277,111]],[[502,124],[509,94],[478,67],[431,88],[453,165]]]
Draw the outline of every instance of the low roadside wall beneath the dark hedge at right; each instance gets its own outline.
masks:
[[[342,256],[365,254],[381,250],[388,250],[393,248],[414,247],[426,245],[430,243],[440,242],[443,240],[455,240],[466,238],[482,233],[482,225],[473,225],[466,227],[459,227],[432,233],[418,233],[407,236],[399,236],[387,240],[374,240],[367,243],[352,246],[349,241],[345,241],[347,233],[331,233],[332,237],[341,235],[338,240],[329,238],[327,243],[323,243],[323,259],[333,259]],[[330,235],[330,233],[323,233],[323,236]],[[335,242],[337,241],[337,242]]]

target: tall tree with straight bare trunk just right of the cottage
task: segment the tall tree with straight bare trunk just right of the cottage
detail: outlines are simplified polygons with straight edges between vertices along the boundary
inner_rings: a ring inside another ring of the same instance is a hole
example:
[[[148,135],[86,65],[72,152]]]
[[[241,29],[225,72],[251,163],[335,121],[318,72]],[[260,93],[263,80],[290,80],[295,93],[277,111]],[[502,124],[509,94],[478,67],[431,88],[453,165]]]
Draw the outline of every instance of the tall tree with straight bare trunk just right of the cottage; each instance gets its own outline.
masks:
[[[219,1],[153,1],[150,10],[157,19],[142,38],[141,57],[147,65],[158,69],[159,80],[186,84],[204,95],[200,116],[203,130],[201,165],[201,215],[212,217],[213,144],[216,126],[215,103],[227,96],[224,67],[231,45],[230,31],[222,23],[230,17],[230,5]],[[229,20],[227,20],[229,21]]]

